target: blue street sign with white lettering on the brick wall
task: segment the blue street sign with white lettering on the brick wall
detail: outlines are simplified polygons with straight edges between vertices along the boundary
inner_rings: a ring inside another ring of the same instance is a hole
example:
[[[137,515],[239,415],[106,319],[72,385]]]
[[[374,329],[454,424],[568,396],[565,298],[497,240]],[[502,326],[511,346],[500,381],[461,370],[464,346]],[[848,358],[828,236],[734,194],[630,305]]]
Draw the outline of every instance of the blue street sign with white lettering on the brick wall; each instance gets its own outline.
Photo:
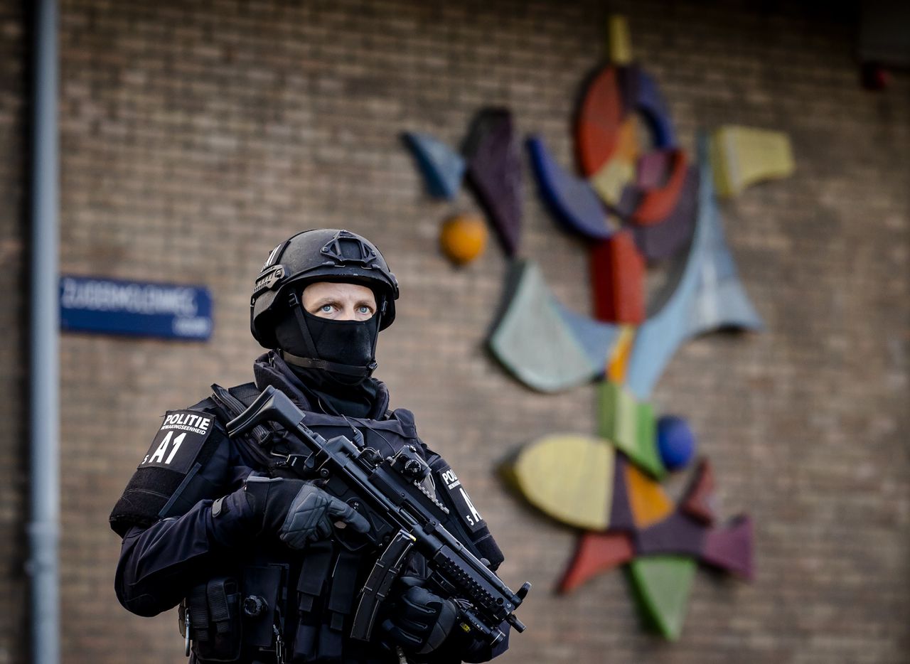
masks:
[[[212,297],[205,287],[60,278],[60,327],[79,332],[205,340]]]

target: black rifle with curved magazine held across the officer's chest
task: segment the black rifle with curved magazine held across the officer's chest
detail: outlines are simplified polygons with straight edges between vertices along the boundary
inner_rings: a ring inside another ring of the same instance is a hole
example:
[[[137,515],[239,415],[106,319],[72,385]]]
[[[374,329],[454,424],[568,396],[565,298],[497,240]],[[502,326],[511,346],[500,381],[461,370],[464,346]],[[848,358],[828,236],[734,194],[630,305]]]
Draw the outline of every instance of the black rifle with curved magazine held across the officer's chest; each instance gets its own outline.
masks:
[[[450,510],[426,486],[430,467],[415,448],[405,446],[383,458],[378,450],[358,448],[344,436],[322,438],[304,424],[305,418],[283,392],[266,387],[242,414],[227,423],[227,434],[233,437],[262,422],[277,422],[296,438],[286,441],[290,453],[284,467],[302,477],[322,478],[323,488],[369,521],[369,532],[358,537],[366,538],[365,545],[380,553],[360,590],[353,639],[369,640],[379,605],[412,549],[426,558],[433,584],[455,601],[462,629],[491,646],[505,638],[503,622],[524,631],[514,611],[531,583],[512,592],[445,528],[453,522]]]

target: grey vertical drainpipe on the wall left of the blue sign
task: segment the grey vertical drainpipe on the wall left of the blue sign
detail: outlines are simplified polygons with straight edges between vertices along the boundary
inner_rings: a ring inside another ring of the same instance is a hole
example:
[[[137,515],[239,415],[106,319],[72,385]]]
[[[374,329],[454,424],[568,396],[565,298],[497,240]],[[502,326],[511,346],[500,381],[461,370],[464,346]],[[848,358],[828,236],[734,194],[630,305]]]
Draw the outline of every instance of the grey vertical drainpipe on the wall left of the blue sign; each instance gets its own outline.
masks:
[[[32,657],[60,661],[59,268],[57,6],[35,2],[31,155],[31,508]]]

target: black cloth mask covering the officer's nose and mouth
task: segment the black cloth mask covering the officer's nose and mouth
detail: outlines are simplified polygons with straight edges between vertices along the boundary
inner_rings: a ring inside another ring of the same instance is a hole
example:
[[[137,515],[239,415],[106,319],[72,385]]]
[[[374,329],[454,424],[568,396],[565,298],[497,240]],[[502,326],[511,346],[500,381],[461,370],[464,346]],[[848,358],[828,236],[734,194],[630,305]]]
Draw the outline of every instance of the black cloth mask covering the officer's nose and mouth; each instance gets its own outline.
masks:
[[[275,328],[278,347],[288,364],[324,369],[348,385],[356,385],[376,368],[379,316],[367,320],[332,320],[294,307]]]

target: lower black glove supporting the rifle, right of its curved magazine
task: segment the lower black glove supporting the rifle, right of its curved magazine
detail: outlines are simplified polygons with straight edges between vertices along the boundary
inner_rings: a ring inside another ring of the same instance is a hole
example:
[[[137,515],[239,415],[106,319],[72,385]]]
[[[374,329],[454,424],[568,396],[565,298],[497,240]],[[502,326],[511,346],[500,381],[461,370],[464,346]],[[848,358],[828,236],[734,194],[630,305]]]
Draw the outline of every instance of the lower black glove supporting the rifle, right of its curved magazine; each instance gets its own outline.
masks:
[[[391,645],[425,655],[442,645],[455,627],[458,608],[450,599],[442,599],[423,588],[423,580],[402,577],[404,587],[389,607],[389,617],[382,623]]]

